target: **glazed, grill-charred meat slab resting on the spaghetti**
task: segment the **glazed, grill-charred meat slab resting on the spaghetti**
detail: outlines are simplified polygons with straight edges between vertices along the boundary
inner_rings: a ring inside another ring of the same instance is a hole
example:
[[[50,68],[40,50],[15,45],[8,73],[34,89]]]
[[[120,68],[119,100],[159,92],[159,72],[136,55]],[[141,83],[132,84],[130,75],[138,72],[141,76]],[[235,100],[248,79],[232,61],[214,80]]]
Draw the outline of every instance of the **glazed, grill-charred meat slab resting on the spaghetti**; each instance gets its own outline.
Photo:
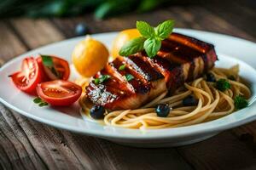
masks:
[[[109,110],[136,109],[164,92],[173,93],[184,82],[201,77],[217,59],[212,44],[172,33],[162,41],[153,59],[142,52],[108,63],[94,78],[110,78],[100,84],[92,80],[86,94],[94,104]],[[121,65],[125,68],[119,69]]]

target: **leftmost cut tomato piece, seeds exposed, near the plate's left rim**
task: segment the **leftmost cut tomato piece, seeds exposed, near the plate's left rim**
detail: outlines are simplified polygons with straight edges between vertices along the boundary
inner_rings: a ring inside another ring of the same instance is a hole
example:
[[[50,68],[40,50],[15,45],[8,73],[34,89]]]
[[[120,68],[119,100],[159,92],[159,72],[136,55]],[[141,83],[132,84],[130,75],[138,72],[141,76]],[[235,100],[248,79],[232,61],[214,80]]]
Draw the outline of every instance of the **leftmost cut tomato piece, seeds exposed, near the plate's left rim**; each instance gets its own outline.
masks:
[[[36,92],[38,83],[42,81],[42,72],[38,67],[36,59],[32,57],[23,59],[21,71],[10,75],[15,86],[20,90],[33,94]]]

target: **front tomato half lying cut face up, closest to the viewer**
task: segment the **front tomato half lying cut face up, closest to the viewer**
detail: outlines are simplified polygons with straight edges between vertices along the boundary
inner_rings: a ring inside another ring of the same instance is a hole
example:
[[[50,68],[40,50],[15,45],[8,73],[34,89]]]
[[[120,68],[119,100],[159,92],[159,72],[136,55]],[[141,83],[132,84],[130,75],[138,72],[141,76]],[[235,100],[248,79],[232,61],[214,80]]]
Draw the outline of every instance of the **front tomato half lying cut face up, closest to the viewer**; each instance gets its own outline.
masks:
[[[50,105],[72,105],[82,94],[82,88],[63,80],[38,84],[38,96]]]

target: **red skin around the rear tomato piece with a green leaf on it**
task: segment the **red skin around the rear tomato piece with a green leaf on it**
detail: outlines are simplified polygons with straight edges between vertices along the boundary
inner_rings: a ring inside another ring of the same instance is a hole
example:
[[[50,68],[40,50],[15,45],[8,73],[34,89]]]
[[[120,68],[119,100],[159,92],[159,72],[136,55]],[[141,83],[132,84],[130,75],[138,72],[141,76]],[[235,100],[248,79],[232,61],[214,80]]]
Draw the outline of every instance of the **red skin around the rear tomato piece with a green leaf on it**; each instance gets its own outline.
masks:
[[[59,57],[57,57],[55,55],[49,55],[49,56],[51,56],[53,58],[54,62],[61,63],[61,65],[64,67],[65,74],[63,75],[61,80],[67,80],[69,78],[69,76],[70,76],[70,68],[69,68],[68,62],[65,59],[61,59],[61,58],[59,58]],[[38,65],[40,65],[43,68],[42,71],[44,71],[45,79],[48,80],[48,81],[56,80],[56,78],[49,77],[49,75],[47,74],[47,71],[45,71],[45,67],[44,67],[44,64],[43,64],[41,56],[38,56],[37,61],[38,61]]]

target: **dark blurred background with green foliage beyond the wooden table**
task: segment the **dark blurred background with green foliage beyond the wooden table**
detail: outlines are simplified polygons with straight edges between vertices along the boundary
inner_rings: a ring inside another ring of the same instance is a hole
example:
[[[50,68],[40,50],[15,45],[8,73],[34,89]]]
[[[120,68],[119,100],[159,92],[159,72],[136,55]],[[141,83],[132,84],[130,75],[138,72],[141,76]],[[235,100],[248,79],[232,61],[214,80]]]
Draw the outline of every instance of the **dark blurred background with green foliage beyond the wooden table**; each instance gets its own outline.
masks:
[[[90,20],[109,20],[129,14],[147,15],[152,11],[172,10],[175,7],[183,7],[185,15],[188,12],[186,8],[193,6],[205,8],[212,14],[230,21],[241,30],[250,31],[256,36],[256,1],[254,0],[1,0],[0,17],[9,19],[27,16],[54,19],[84,16],[89,17]],[[197,20],[204,20],[205,17],[199,15]],[[191,24],[196,25],[196,23]],[[214,27],[210,19],[208,24]],[[75,35],[69,37],[73,36]]]

